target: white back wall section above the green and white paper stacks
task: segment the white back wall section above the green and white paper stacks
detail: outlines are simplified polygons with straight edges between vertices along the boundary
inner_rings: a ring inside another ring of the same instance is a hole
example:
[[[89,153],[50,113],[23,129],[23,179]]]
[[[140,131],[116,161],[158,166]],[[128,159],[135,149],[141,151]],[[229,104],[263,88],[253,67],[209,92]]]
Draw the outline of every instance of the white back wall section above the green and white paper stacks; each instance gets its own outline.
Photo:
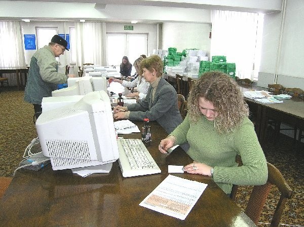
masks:
[[[210,57],[209,32],[211,24],[199,23],[163,23],[163,49],[177,48],[178,52],[184,49],[201,49]]]

